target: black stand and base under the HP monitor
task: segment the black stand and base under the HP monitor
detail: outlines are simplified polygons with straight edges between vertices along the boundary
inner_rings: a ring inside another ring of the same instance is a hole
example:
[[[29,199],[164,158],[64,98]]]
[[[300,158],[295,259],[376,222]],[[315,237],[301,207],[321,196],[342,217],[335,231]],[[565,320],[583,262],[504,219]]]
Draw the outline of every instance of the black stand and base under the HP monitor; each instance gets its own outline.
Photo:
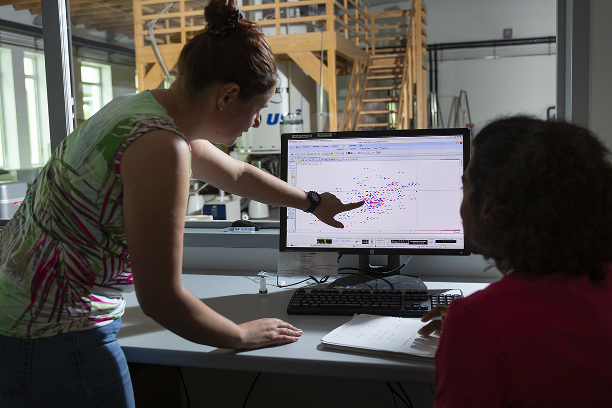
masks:
[[[399,255],[387,255],[387,265],[378,266],[370,264],[369,255],[359,255],[359,269],[367,270],[361,275],[349,275],[338,278],[329,285],[328,288],[351,288],[351,289],[427,289],[425,283],[416,276],[389,275],[385,272],[396,269],[400,266]]]

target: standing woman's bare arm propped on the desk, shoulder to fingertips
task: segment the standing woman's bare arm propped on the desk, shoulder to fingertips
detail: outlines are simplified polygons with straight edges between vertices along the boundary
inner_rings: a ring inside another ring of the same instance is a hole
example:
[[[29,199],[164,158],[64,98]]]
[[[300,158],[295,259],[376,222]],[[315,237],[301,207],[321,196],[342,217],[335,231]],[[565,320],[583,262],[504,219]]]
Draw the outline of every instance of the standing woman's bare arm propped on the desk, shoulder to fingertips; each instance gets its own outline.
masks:
[[[233,349],[291,343],[301,331],[280,319],[237,325],[182,285],[189,150],[175,133],[140,136],[124,152],[125,233],[138,302],[145,314],[196,343]]]

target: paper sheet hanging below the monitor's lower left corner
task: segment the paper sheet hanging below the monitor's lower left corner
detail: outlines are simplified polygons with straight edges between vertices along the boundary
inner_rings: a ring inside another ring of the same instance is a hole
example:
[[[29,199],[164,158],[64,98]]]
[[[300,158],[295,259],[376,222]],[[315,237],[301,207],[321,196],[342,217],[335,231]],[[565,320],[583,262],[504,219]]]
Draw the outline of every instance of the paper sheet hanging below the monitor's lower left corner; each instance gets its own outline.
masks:
[[[278,275],[338,275],[338,253],[280,251],[278,253]]]

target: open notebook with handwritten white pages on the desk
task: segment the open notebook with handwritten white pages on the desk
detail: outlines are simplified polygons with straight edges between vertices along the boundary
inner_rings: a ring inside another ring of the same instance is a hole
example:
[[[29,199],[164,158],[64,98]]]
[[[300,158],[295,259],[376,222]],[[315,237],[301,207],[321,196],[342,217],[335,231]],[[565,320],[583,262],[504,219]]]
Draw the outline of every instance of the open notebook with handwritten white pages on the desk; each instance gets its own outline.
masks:
[[[433,361],[439,335],[419,335],[424,325],[419,318],[356,314],[323,336],[321,343],[329,349]]]

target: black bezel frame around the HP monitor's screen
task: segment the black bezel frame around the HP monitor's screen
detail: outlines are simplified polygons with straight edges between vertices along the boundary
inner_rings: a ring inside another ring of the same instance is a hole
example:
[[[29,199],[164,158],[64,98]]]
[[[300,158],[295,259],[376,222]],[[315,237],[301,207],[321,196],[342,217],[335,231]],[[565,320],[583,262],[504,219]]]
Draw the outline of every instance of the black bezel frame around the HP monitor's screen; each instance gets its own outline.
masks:
[[[288,141],[294,139],[354,139],[368,137],[416,137],[416,136],[463,136],[463,171],[468,168],[470,150],[470,130],[469,128],[441,128],[441,129],[406,129],[406,130],[365,130],[354,132],[312,132],[312,133],[283,133],[281,135],[281,158],[280,158],[280,177],[283,181],[287,181],[287,166],[288,166]],[[319,191],[323,193],[324,191]],[[457,208],[459,211],[459,208]],[[470,244],[463,231],[465,246],[463,249],[451,248],[327,248],[327,247],[287,247],[286,239],[287,231],[287,209],[280,207],[280,233],[279,246],[280,251],[287,252],[337,252],[338,254],[381,254],[381,255],[457,255],[466,256],[471,254],[468,248]]]

